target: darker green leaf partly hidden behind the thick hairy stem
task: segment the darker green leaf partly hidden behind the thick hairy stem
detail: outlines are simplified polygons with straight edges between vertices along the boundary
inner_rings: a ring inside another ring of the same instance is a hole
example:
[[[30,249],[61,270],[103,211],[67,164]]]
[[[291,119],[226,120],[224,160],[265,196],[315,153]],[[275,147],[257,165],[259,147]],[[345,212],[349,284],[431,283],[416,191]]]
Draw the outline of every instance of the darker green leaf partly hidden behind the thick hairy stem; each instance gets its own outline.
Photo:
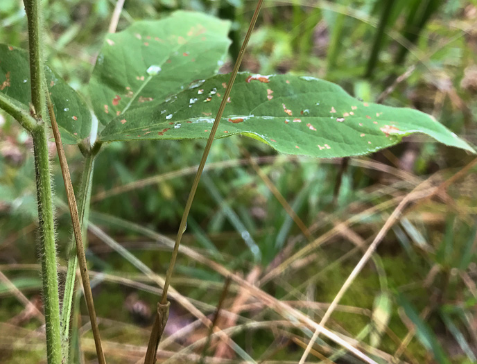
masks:
[[[0,44],[0,92],[15,98],[25,110],[31,103],[29,67],[26,51]],[[89,137],[92,116],[83,98],[49,67],[45,77],[63,143],[77,144]]]

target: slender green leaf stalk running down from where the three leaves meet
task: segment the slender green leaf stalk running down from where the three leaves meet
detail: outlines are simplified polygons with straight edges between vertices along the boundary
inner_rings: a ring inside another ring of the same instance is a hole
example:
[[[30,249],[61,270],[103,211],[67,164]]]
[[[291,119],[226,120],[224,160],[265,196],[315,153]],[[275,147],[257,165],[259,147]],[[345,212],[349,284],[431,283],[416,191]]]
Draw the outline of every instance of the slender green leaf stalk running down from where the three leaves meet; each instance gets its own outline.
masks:
[[[88,151],[85,155],[85,165],[83,166],[83,176],[81,177],[80,191],[78,195],[78,214],[83,236],[85,235],[85,225],[83,224],[83,221],[85,220],[85,209],[91,193],[93,165],[94,156],[90,151]],[[63,358],[66,359],[69,357],[69,322],[71,320],[71,306],[73,304],[73,294],[75,291],[74,288],[77,266],[78,257],[76,256],[74,236],[72,236],[68,255],[67,277],[66,281],[64,282],[64,294],[62,301],[63,305],[61,312],[62,355]]]

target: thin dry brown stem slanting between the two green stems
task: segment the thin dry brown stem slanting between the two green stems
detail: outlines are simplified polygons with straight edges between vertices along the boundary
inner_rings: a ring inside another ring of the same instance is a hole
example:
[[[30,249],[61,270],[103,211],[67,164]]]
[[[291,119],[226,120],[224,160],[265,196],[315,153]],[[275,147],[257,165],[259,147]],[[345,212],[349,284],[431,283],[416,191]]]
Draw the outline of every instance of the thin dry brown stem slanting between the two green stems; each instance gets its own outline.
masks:
[[[91,322],[91,328],[93,331],[94,345],[96,346],[96,355],[98,356],[98,363],[105,364],[106,361],[103,353],[103,347],[101,345],[101,336],[99,335],[98,322],[96,321],[96,311],[94,310],[93,293],[91,291],[91,284],[89,284],[89,275],[87,271],[87,263],[85,257],[85,247],[83,245],[81,223],[78,214],[78,207],[76,206],[76,198],[74,195],[73,184],[71,183],[68,163],[66,156],[64,155],[63,144],[61,142],[60,130],[58,130],[58,124],[56,123],[55,112],[53,110],[53,103],[51,103],[49,94],[46,94],[46,101],[48,101],[48,111],[51,120],[51,128],[53,129],[53,136],[55,137],[56,150],[58,151],[58,157],[60,158],[60,166],[61,173],[63,175],[64,188],[67,190],[69,213],[71,214],[71,223],[73,225],[73,233],[74,238],[76,240],[76,254],[78,255],[78,263],[80,264],[81,280],[83,281],[83,290],[85,291],[85,301],[86,306],[88,308],[89,321]],[[86,199],[83,198],[83,200]]]

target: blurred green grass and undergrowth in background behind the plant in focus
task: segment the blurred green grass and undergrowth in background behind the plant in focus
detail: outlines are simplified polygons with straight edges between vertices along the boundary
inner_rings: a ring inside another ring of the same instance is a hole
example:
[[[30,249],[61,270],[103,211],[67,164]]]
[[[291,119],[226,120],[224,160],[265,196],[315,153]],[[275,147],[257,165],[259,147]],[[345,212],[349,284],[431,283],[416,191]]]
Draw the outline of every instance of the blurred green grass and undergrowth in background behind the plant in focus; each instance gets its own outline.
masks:
[[[43,3],[48,62],[69,85],[84,93],[115,2]],[[157,19],[179,8],[227,17],[234,21],[232,60],[254,6],[253,1],[243,0],[125,1],[118,31],[135,19]],[[21,1],[1,1],[0,25],[0,42],[26,48]],[[476,29],[476,0],[270,0],[263,5],[243,70],[309,74],[338,83],[365,101],[415,107],[475,145]],[[223,71],[229,67],[225,64]],[[388,87],[392,89],[386,92]],[[5,114],[0,114],[0,124],[0,271],[28,299],[35,300],[41,285],[35,266],[37,211],[31,141]],[[170,250],[144,228],[175,235],[195,172],[189,167],[198,164],[204,146],[205,141],[114,143],[96,159],[92,223],[159,275],[166,272]],[[410,137],[382,153],[351,159],[342,168],[341,160],[275,155],[245,137],[214,141],[208,159],[211,168],[200,183],[184,245],[244,277],[255,264],[264,275],[309,244],[252,168],[244,150],[309,227],[313,239],[329,234],[320,248],[292,259],[260,286],[280,300],[293,302],[317,322],[362,256],[363,247],[357,244],[361,241],[367,246],[396,207],[390,201],[406,196],[426,178],[438,186],[474,158],[462,150]],[[78,148],[69,146],[67,157],[73,184],[79,184],[82,157]],[[58,161],[53,160],[58,250],[65,266],[71,228],[60,204],[65,194]],[[174,171],[177,175],[171,175]],[[360,349],[369,349],[370,335],[361,333],[373,323],[376,297],[390,295],[391,304],[385,308],[388,324],[380,333],[377,350],[368,352],[379,363],[393,356],[396,362],[408,363],[476,362],[476,171],[476,166],[471,167],[437,196],[418,200],[406,209],[331,316],[329,328],[357,338]],[[144,182],[154,176],[153,182]],[[114,190],[124,186],[129,189]],[[346,228],[333,230],[343,222]],[[254,260],[250,244],[259,247],[261,261]],[[149,331],[148,318],[142,321],[146,328],[141,327],[132,307],[144,304],[151,309],[157,302],[157,287],[94,234],[89,234],[87,258],[94,272],[95,304],[108,363],[136,363],[141,352],[135,349],[146,345]],[[180,255],[173,286],[209,315],[218,303],[223,277]],[[232,285],[226,309],[231,309],[237,294],[238,288]],[[80,302],[76,307],[84,315],[86,309]],[[191,321],[177,304],[173,309],[177,327]],[[0,334],[2,363],[46,360],[41,322],[26,311],[2,279],[0,331],[7,335]],[[275,324],[279,316],[263,307],[239,313],[237,325],[270,322],[265,329],[245,329],[233,336],[257,362],[300,360],[301,346],[309,341],[306,331]],[[82,336],[80,347],[86,361],[94,361],[92,336],[83,326],[87,319],[81,320],[74,325]],[[198,329],[167,350],[178,352],[205,335]],[[119,350],[119,343],[131,346]],[[327,341],[319,340],[314,349],[337,363],[358,363]],[[208,354],[213,356],[214,349]],[[312,353],[309,361],[320,358]]]

